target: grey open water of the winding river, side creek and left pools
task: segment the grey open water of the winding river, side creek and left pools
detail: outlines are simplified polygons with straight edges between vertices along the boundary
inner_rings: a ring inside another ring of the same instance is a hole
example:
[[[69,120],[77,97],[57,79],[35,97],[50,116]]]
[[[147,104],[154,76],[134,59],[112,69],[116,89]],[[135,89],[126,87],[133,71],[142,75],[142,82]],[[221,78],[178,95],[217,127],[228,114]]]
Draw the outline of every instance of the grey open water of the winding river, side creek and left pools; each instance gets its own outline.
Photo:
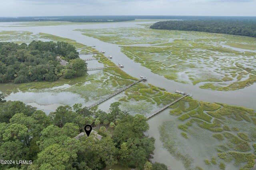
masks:
[[[82,35],[79,31],[73,31],[74,29],[100,29],[100,28],[115,28],[115,27],[136,27],[138,23],[149,23],[149,22],[125,22],[125,23],[103,23],[103,24],[88,24],[88,25],[59,25],[59,26],[36,26],[36,27],[0,27],[0,31],[31,31],[34,34],[37,33],[48,33],[52,35],[57,35],[60,37],[70,38],[76,40],[78,43],[82,43],[84,45],[96,45],[96,49],[98,51],[106,51],[107,55],[112,55],[112,61],[114,63],[124,63],[125,67],[122,68],[125,72],[130,74],[131,76],[139,78],[140,75],[143,75],[148,78],[148,83],[153,84],[154,86],[158,86],[161,88],[165,88],[168,92],[174,93],[174,90],[180,90],[193,94],[193,98],[200,101],[205,102],[221,102],[230,105],[236,106],[245,106],[248,108],[252,108],[256,110],[256,84],[246,87],[240,90],[234,91],[213,91],[201,89],[198,86],[193,86],[191,84],[182,84],[175,82],[173,80],[168,80],[164,78],[164,76],[160,76],[158,74],[154,74],[150,71],[150,69],[141,66],[140,63],[135,63],[133,60],[129,59],[120,51],[120,47],[115,44],[105,43],[98,39],[94,39],[92,37],[87,37]],[[151,22],[153,23],[153,22]],[[0,23],[1,25],[8,26],[10,23]],[[11,23],[14,24],[14,23]],[[2,86],[2,85],[0,85]],[[0,88],[1,90],[2,88]],[[34,101],[30,100],[28,102],[25,101],[26,104],[31,104],[32,106],[42,108],[48,111],[54,111],[56,107],[60,106],[60,102],[57,98],[60,97],[62,103],[64,104],[72,104],[81,102],[81,98],[78,95],[73,95],[72,98],[74,102],[70,102],[70,95],[62,95],[60,96],[44,96],[44,99],[47,100],[46,106],[39,106],[37,102],[37,98],[34,98]],[[15,97],[7,97],[10,100],[20,100],[22,98],[22,94],[16,95]],[[56,100],[53,100],[56,99]],[[110,103],[114,102],[110,100],[100,106],[101,109],[106,109],[109,107]],[[172,117],[168,114],[168,110],[162,112],[156,117],[150,119],[148,123],[150,124],[150,130],[147,131],[147,135],[150,137],[153,136],[156,138],[155,143],[155,154],[153,161],[158,161],[167,164],[168,166],[172,166],[174,169],[182,170],[184,166],[178,160],[176,160],[166,149],[162,147],[162,142],[160,141],[160,135],[158,131],[158,127],[162,125],[164,121],[168,121],[172,119]]]

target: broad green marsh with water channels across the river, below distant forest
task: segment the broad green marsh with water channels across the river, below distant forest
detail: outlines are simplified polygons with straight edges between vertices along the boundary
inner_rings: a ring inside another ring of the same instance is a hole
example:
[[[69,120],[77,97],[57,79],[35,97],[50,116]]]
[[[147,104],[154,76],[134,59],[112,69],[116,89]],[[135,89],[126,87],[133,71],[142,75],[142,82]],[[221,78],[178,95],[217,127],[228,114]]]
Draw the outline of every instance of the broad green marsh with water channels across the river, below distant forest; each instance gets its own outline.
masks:
[[[84,35],[122,46],[122,52],[152,72],[212,90],[237,90],[256,82],[256,39],[193,31],[130,28],[78,29]],[[148,44],[146,47],[132,46]],[[240,47],[236,51],[230,47]],[[247,49],[248,49],[247,48]]]

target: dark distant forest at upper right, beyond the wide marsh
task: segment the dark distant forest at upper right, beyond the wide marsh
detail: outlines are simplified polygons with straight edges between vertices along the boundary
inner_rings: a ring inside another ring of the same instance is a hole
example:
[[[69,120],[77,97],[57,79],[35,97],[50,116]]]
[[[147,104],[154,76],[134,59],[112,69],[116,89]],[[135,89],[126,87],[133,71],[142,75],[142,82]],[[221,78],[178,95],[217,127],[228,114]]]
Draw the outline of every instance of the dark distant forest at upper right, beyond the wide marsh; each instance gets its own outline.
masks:
[[[224,33],[256,37],[256,20],[211,19],[211,20],[184,20],[160,21],[150,26],[152,29],[169,29],[180,31],[200,31],[209,33]]]

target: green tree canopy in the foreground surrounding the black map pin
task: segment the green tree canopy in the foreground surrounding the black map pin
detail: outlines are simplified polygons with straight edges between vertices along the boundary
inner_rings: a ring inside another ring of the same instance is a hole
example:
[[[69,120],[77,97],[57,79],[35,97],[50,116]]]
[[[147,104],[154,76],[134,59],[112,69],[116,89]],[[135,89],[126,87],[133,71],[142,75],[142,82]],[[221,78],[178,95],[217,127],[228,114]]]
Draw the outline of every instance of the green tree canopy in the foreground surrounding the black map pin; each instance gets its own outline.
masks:
[[[46,115],[20,101],[0,95],[1,160],[31,160],[32,164],[1,164],[1,170],[102,170],[119,164],[138,170],[167,170],[165,164],[152,164],[153,137],[146,117],[129,115],[110,105],[109,113],[98,107],[88,110],[82,104],[59,106]],[[102,135],[91,133],[74,139],[90,124]]]

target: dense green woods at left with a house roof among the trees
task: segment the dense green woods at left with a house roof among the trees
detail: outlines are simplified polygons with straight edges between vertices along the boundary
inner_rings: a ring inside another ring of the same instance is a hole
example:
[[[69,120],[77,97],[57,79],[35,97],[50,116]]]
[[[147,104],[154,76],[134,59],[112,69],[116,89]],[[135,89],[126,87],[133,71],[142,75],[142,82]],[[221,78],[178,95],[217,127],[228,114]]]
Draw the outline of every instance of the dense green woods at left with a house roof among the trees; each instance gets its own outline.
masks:
[[[69,63],[62,66],[57,56]],[[87,63],[79,59],[75,47],[65,42],[0,43],[1,83],[56,81],[83,76],[86,69]]]

